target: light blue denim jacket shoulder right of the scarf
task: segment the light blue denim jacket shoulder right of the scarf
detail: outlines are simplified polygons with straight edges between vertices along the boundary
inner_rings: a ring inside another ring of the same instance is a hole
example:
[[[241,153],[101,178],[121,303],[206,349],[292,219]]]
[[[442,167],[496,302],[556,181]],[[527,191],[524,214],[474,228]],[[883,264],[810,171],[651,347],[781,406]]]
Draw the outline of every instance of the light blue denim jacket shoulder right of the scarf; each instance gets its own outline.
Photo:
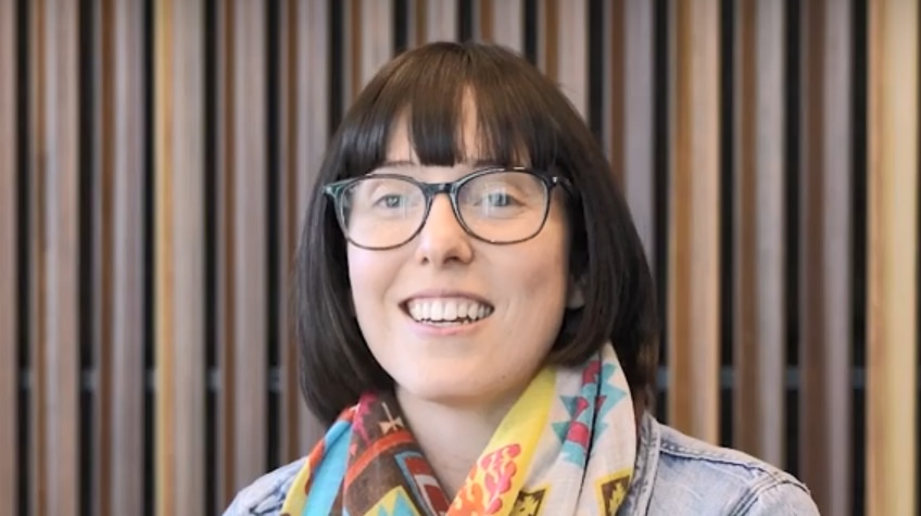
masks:
[[[656,426],[647,514],[819,514],[808,488],[793,475],[747,453]]]

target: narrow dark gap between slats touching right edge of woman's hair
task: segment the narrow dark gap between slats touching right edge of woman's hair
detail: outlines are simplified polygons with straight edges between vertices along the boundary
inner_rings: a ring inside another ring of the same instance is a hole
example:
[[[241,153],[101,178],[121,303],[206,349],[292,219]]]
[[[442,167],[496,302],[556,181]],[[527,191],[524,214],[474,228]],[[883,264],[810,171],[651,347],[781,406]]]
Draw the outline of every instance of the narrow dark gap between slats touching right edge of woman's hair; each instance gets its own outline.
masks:
[[[668,370],[668,189],[669,189],[669,56],[668,56],[668,0],[655,0],[653,13],[653,166],[656,186],[655,199],[655,275],[656,295],[659,311],[659,368],[665,376]],[[656,417],[668,421],[668,391],[660,386],[656,399]]]

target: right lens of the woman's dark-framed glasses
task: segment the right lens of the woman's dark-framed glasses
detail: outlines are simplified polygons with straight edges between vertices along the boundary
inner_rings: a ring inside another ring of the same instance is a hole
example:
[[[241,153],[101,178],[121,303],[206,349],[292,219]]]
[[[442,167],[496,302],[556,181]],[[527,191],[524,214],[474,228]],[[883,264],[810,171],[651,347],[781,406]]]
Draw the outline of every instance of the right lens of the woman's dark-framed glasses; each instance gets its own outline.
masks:
[[[533,237],[544,224],[550,192],[527,172],[493,172],[464,184],[457,192],[460,216],[483,240],[514,242]]]

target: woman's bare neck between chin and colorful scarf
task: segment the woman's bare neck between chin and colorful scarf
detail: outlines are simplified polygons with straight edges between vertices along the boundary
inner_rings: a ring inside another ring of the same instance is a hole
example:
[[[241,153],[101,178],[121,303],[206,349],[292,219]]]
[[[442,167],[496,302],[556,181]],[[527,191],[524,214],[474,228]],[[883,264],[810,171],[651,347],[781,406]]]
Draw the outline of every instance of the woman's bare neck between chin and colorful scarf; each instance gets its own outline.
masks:
[[[450,405],[420,399],[401,389],[396,390],[396,399],[449,500],[459,491],[515,403],[512,398],[488,406]]]

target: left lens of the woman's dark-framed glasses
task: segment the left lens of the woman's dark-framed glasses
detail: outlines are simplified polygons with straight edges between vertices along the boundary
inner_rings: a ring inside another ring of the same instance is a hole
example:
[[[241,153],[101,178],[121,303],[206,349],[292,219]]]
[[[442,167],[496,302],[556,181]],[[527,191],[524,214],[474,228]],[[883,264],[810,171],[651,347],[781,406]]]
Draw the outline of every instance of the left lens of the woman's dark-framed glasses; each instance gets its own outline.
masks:
[[[367,248],[404,243],[422,224],[426,211],[422,190],[395,177],[366,176],[342,193],[341,202],[349,239]]]

